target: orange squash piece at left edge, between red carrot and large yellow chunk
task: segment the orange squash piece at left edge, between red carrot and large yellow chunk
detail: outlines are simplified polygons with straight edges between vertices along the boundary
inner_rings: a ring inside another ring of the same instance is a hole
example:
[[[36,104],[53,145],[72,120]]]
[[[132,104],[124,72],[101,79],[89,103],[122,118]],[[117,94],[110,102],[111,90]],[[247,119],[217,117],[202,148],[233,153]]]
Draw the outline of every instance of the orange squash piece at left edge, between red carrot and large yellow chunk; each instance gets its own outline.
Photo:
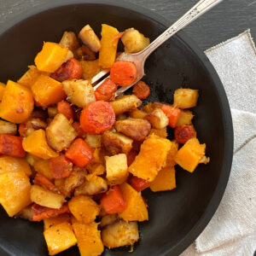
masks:
[[[3,155],[0,157],[0,174],[5,172],[24,172],[32,175],[31,168],[25,158]]]

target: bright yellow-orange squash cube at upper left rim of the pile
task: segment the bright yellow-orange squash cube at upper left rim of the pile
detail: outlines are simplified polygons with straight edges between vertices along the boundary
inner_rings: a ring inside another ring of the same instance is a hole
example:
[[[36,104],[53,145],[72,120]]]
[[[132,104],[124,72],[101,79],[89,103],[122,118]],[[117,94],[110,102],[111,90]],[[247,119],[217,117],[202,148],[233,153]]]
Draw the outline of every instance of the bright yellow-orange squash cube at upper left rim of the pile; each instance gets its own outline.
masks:
[[[61,44],[46,42],[43,49],[35,58],[35,64],[39,71],[54,73],[73,54]]]

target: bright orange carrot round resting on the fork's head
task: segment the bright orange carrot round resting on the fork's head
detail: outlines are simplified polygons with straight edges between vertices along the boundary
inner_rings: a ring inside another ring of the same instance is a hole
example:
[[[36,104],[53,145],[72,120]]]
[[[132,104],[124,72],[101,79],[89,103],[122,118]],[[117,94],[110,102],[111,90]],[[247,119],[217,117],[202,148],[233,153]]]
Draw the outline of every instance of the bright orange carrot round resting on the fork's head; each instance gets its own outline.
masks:
[[[137,67],[131,61],[116,61],[110,69],[110,79],[119,86],[128,86],[137,79]]]

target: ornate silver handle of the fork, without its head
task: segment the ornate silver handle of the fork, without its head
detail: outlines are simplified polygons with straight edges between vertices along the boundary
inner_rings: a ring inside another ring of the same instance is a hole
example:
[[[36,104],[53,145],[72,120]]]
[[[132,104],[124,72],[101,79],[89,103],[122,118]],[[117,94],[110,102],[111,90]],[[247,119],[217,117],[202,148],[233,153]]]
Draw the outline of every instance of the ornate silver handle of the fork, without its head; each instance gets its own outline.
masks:
[[[183,29],[184,26],[189,25],[193,20],[196,20],[199,16],[206,13],[209,9],[212,9],[213,6],[222,2],[223,0],[201,0],[196,3],[189,11],[184,14],[179,20],[177,20],[172,26],[166,29],[158,38],[148,45],[147,48],[139,52],[139,55],[143,55],[144,60],[147,59],[154,49],[158,48],[160,44],[166,42],[168,38],[171,38],[179,30]],[[137,55],[137,54],[135,54]]]

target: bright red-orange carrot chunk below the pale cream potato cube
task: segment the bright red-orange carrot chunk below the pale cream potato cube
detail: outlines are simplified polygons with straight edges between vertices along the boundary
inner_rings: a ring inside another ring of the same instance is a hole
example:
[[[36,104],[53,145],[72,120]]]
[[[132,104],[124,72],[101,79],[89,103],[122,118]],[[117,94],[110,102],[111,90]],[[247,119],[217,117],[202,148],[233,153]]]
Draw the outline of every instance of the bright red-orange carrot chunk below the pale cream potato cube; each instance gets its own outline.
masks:
[[[109,214],[125,211],[126,203],[119,185],[113,186],[106,194],[102,195],[101,205]]]

